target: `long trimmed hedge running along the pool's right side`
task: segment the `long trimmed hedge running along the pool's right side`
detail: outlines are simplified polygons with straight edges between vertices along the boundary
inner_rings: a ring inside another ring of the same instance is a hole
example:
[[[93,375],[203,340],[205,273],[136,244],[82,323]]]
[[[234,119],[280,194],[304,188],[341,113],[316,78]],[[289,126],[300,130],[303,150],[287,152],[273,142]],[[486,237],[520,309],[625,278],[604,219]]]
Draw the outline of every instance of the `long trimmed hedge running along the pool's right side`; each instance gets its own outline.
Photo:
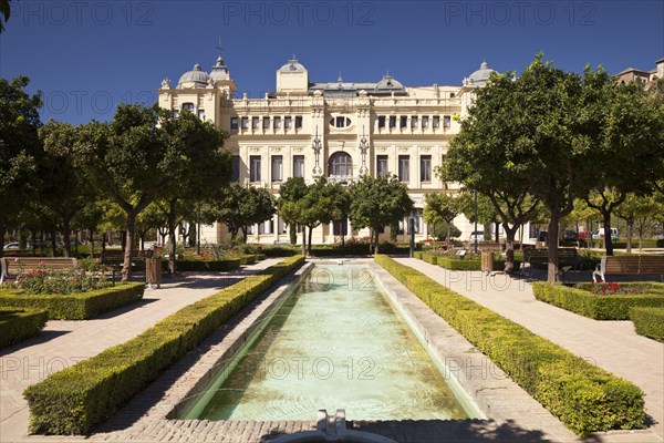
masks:
[[[643,429],[643,392],[385,256],[376,261],[578,435]]]

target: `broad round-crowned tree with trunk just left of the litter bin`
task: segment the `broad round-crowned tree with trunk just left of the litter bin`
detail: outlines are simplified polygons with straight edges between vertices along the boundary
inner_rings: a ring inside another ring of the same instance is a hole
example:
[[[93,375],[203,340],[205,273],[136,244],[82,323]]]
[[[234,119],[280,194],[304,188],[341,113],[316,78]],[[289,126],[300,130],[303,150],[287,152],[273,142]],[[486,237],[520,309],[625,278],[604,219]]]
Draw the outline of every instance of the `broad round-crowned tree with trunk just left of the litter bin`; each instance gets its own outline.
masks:
[[[169,116],[157,105],[121,104],[112,122],[92,121],[76,137],[89,179],[126,214],[123,281],[132,278],[136,217],[159,196],[180,161],[160,127]]]

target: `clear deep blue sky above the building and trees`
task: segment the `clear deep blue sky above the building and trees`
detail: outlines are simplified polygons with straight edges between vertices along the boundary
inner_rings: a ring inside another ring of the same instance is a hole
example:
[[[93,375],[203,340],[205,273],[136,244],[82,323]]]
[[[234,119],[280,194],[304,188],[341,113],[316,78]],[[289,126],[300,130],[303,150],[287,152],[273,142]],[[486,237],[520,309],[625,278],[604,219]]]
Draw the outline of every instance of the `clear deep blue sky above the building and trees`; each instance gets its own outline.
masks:
[[[44,93],[42,120],[112,117],[162,79],[210,70],[221,40],[238,92],[262,96],[294,52],[312,81],[460,85],[486,60],[521,71],[538,51],[569,71],[651,70],[664,1],[25,1],[0,34],[0,76]]]

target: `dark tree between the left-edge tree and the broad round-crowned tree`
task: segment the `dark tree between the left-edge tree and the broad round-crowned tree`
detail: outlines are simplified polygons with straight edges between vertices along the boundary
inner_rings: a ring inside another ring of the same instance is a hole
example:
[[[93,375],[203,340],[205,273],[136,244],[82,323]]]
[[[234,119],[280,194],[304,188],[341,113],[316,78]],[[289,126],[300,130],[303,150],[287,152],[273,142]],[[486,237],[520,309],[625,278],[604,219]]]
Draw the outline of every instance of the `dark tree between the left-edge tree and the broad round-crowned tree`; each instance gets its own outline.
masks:
[[[72,220],[95,193],[77,161],[76,128],[69,123],[46,122],[39,128],[44,156],[40,162],[42,182],[40,202],[59,218],[64,240],[64,256],[71,257]]]

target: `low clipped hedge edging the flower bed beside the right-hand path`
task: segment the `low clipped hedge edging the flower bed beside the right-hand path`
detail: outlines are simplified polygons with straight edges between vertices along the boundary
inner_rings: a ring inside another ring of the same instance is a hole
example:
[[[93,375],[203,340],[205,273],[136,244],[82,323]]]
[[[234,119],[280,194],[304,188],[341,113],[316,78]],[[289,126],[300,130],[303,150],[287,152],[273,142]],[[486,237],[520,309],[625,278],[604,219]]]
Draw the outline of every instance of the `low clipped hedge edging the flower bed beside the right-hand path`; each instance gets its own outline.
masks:
[[[656,287],[657,284],[650,285]],[[646,292],[650,285],[642,285]],[[664,285],[660,287],[664,288]],[[540,301],[595,320],[629,320],[630,308],[634,306],[664,307],[662,292],[600,296],[579,288],[536,281],[532,293]]]

